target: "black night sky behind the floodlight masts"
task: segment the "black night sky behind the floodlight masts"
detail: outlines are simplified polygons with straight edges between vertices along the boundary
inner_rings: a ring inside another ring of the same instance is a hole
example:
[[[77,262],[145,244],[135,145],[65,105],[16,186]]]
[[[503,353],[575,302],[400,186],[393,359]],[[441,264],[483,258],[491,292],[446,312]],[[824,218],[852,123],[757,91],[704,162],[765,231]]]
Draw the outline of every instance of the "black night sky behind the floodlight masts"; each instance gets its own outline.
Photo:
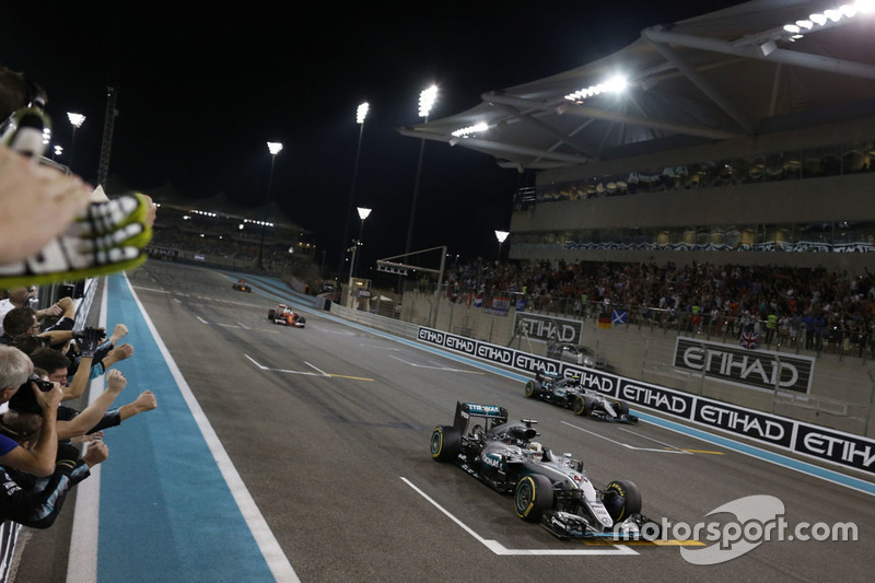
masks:
[[[368,101],[354,205],[373,209],[360,264],[373,265],[404,253],[421,142],[397,128],[421,121],[422,90],[438,84],[430,118],[439,119],[478,105],[485,92],[614,53],[646,26],[736,3],[147,2],[98,10],[20,2],[0,16],[0,63],[47,91],[54,138],[67,154],[66,112],[88,117],[77,130],[73,170],[92,184],[107,85],[117,88],[119,110],[110,187],[170,184],[190,199],[223,193],[257,207],[268,196],[266,142],[282,142],[271,199],[312,232],[327,266],[339,260],[359,141],[355,108]],[[67,154],[58,160],[69,162]],[[513,194],[528,185],[532,176],[500,168],[491,156],[427,143],[411,249],[447,245],[463,261],[494,259],[494,230],[508,230]],[[353,210],[350,240],[359,224]]]

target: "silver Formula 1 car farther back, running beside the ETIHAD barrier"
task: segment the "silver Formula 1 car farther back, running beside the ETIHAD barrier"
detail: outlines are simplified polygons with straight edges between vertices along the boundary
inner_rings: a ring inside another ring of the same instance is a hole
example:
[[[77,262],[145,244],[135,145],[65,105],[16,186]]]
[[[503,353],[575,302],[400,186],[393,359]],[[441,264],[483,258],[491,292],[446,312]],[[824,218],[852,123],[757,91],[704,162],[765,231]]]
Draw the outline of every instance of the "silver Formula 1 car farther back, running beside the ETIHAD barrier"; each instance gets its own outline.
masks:
[[[575,415],[619,423],[638,423],[638,416],[629,412],[627,403],[609,399],[597,390],[582,386],[578,373],[560,376],[539,370],[535,378],[526,382],[525,395],[571,409]]]

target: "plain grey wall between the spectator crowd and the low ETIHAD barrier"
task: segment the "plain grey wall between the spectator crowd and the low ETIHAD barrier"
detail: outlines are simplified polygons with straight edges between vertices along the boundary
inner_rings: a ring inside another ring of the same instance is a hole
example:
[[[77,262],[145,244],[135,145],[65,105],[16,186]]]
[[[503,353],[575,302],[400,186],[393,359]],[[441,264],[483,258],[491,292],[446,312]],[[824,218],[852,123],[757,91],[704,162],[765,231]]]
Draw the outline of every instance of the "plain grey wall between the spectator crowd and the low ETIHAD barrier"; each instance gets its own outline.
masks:
[[[521,312],[521,316],[530,314]],[[551,317],[539,314],[539,317]],[[515,334],[517,314],[510,306],[506,313],[495,314],[453,303],[445,298],[428,293],[405,293],[400,319],[422,328],[475,339],[495,347],[513,348],[535,357],[546,357],[547,342],[526,334]],[[557,320],[580,326],[579,343],[594,348],[607,361],[606,372],[652,383],[661,387],[695,395],[705,399],[813,423],[864,438],[875,438],[875,371],[873,361],[864,358],[814,352],[777,352],[775,358],[796,357],[813,359],[810,378],[806,390],[774,390],[744,386],[718,380],[701,372],[676,365],[677,331],[658,326],[612,324],[599,327],[598,318],[581,320],[556,316]],[[604,323],[603,323],[604,325]],[[707,335],[695,337],[709,348],[738,345],[723,343]],[[751,351],[767,353],[769,351]]]

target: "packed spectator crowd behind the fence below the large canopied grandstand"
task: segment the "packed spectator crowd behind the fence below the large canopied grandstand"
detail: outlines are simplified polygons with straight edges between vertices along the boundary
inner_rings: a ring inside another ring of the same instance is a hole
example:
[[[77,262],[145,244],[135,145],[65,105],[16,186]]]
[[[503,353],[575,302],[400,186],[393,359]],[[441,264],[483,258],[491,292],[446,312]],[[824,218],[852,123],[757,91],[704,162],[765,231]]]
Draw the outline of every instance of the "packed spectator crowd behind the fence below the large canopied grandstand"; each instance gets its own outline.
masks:
[[[863,355],[875,350],[875,273],[693,263],[580,261],[462,265],[446,278],[456,302],[469,294],[581,318],[626,314],[629,324],[738,335],[762,343]]]

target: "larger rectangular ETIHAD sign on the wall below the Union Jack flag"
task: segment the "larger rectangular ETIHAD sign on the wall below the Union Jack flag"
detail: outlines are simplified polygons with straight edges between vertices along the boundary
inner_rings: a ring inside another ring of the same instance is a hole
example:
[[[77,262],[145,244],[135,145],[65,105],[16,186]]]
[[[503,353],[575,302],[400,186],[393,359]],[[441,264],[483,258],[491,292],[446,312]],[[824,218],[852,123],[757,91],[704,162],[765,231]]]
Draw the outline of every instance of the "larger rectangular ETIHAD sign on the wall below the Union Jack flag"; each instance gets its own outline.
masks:
[[[684,337],[678,337],[675,345],[674,365],[725,383],[796,393],[808,393],[814,374],[814,359],[809,357],[751,351]]]

